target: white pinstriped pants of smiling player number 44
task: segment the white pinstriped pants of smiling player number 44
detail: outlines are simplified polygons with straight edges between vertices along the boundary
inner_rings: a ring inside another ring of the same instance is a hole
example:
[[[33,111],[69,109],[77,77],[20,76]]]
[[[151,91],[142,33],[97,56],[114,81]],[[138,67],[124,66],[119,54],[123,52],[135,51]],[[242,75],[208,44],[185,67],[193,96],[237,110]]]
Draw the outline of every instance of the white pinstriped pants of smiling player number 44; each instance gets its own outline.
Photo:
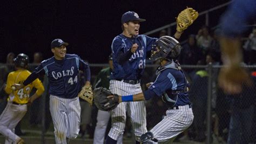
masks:
[[[67,143],[79,133],[81,107],[78,97],[60,98],[50,95],[50,112],[56,143]]]

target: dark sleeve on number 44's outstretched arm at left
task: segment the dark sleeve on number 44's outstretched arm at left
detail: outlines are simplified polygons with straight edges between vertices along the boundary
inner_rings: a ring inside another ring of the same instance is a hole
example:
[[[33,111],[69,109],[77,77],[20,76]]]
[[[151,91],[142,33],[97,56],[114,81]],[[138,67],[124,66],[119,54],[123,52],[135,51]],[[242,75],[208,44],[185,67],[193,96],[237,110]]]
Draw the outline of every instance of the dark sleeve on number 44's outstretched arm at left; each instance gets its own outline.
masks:
[[[32,83],[33,81],[36,80],[36,78],[38,78],[39,76],[44,75],[44,74],[45,74],[45,71],[44,71],[43,65],[41,63],[38,67],[36,67],[36,69],[33,71],[33,73],[31,73],[31,75],[29,75],[29,77],[26,78],[26,80],[23,82],[23,85],[28,85],[28,84]]]

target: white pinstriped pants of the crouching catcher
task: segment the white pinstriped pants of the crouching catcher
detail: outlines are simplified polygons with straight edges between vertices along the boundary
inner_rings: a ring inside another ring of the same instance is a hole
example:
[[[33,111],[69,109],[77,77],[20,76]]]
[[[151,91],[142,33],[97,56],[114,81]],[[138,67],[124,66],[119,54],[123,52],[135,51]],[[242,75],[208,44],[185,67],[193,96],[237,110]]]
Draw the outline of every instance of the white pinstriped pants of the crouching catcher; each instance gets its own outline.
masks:
[[[159,142],[168,141],[185,131],[193,122],[193,112],[188,105],[179,106],[176,110],[167,110],[166,116],[150,132]]]

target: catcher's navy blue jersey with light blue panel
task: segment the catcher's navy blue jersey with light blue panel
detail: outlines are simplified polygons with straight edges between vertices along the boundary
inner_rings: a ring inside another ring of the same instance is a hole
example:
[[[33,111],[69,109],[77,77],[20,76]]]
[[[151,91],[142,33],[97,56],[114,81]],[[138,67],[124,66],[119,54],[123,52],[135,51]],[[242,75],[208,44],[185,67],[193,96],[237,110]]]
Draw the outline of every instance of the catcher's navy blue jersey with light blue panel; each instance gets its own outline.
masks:
[[[149,87],[153,90],[157,96],[168,95],[172,99],[173,106],[187,105],[190,104],[188,99],[188,92],[184,89],[187,87],[186,78],[181,70],[167,68],[158,74],[156,81]],[[172,98],[173,91],[184,91],[179,92],[178,95],[174,95]]]

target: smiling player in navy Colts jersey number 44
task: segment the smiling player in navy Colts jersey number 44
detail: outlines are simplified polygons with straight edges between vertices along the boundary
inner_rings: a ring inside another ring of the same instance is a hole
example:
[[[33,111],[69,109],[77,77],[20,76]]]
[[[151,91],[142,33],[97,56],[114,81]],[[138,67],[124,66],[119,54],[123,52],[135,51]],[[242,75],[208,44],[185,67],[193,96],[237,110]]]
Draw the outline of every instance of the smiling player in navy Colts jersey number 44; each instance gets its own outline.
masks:
[[[78,80],[79,69],[86,75],[85,85],[90,86],[90,68],[78,55],[66,54],[66,46],[69,44],[61,39],[51,42],[50,59],[44,60],[33,73],[21,83],[15,85],[17,89],[23,88],[39,75],[46,74],[49,80],[50,112],[54,125],[56,143],[67,143],[75,139],[79,133],[80,104],[78,92],[80,84]]]

